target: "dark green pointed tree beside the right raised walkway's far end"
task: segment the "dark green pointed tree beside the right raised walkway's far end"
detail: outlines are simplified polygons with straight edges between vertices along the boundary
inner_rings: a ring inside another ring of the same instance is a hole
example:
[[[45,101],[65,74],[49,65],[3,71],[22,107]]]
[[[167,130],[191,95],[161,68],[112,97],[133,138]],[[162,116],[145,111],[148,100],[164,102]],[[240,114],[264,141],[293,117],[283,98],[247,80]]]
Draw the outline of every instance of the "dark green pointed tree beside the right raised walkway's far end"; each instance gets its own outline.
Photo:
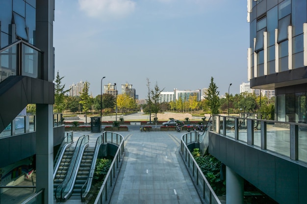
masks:
[[[220,98],[219,98],[219,93],[220,91],[217,91],[218,87],[215,85],[213,81],[213,77],[211,76],[211,81],[209,88],[207,90],[207,97],[206,101],[207,104],[210,108],[210,113],[213,114],[218,114],[219,113],[219,108],[220,108]]]

